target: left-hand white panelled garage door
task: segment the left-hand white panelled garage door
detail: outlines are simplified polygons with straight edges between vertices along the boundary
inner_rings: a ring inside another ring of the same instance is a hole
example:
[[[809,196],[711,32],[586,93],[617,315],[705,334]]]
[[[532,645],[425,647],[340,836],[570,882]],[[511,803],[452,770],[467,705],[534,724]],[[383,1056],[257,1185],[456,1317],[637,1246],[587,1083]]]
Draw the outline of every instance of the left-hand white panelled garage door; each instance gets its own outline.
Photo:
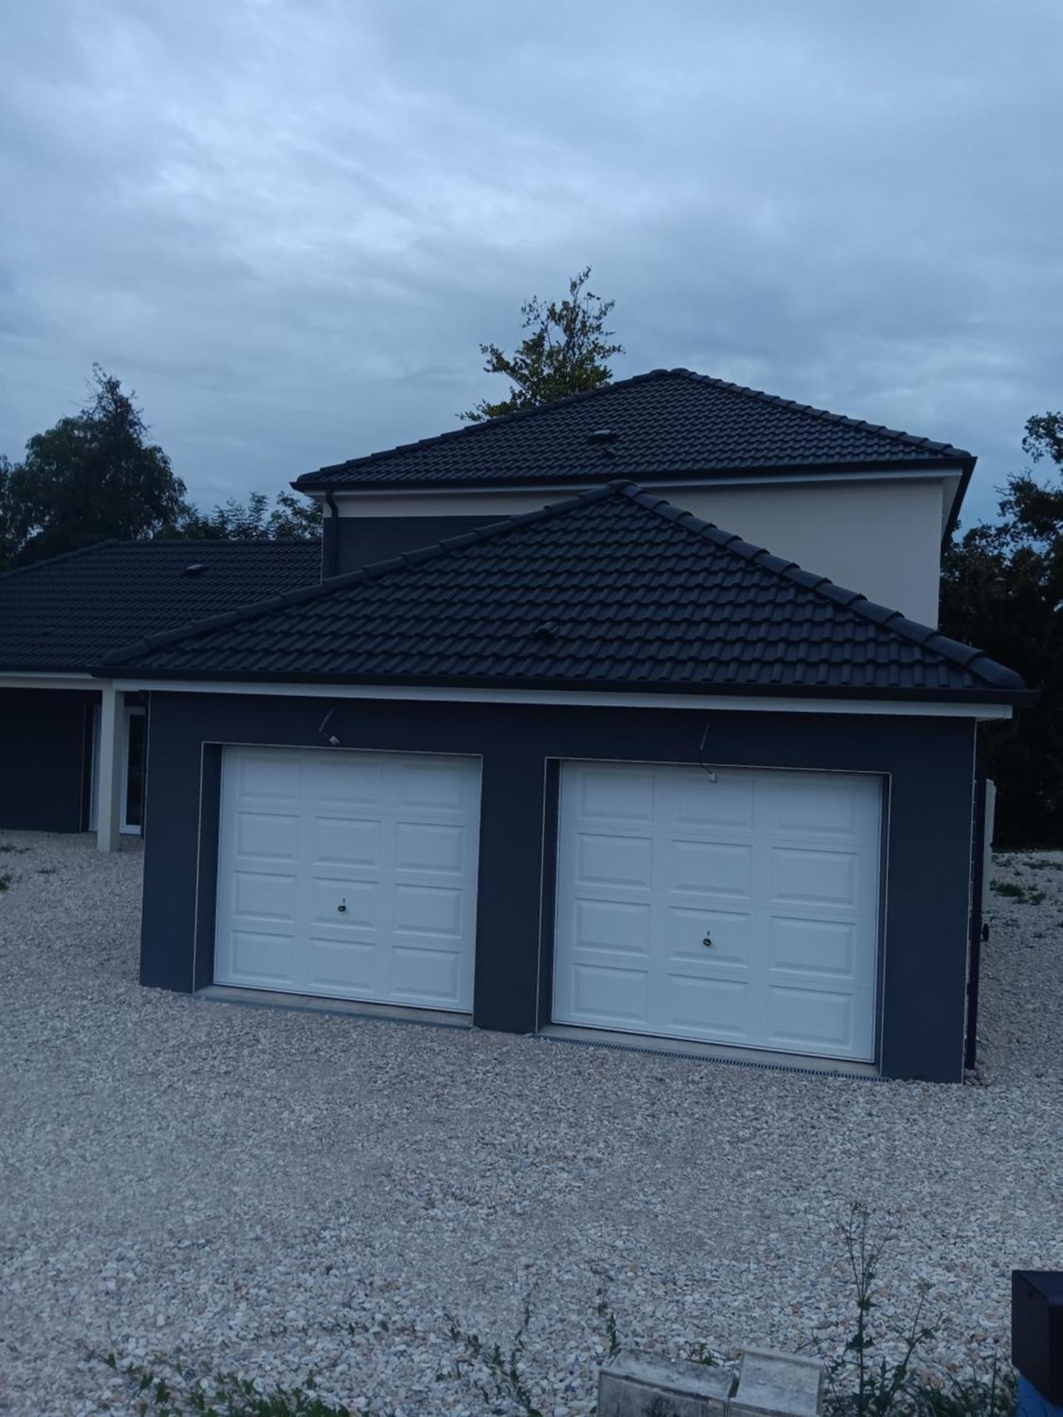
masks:
[[[479,764],[225,748],[217,983],[472,1009]]]

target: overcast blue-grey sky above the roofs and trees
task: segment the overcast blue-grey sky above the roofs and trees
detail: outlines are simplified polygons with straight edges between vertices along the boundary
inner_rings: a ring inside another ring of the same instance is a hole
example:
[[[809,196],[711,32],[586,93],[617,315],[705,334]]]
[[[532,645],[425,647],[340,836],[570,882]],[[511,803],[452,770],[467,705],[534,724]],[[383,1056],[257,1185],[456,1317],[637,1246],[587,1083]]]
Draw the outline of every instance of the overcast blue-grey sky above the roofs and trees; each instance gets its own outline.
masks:
[[[967,446],[968,523],[1063,404],[1060,0],[7,0],[0,33],[11,458],[98,360],[197,502],[272,492],[502,397],[479,341],[585,264],[617,377]]]

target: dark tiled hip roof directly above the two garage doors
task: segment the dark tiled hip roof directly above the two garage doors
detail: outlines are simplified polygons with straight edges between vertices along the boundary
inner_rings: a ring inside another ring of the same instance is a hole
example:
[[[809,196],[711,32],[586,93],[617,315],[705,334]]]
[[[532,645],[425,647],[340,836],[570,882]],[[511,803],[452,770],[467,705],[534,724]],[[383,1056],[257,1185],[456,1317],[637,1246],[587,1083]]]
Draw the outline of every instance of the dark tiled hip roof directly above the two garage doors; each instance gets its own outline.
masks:
[[[632,483],[366,567],[109,669],[163,679],[1016,697],[1018,674]],[[866,609],[865,609],[866,606]],[[540,633],[549,623],[551,633]],[[102,670],[101,670],[102,672]]]

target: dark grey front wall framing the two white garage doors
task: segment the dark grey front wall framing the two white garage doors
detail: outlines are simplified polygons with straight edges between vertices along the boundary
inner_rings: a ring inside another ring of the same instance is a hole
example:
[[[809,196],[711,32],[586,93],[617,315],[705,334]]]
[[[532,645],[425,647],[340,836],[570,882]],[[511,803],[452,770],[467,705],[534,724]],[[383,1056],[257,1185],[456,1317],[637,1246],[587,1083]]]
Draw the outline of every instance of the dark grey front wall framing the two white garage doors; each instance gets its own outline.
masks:
[[[220,768],[213,745],[322,747],[317,727],[332,703],[153,694],[143,983],[190,990],[211,976]],[[546,1023],[550,989],[541,981],[549,982],[544,956],[551,937],[541,921],[549,924],[551,910],[549,891],[544,901],[543,840],[550,836],[544,828],[553,806],[544,803],[556,801],[550,761],[696,762],[706,716],[659,708],[336,703],[329,731],[343,748],[482,755],[473,1022],[512,1032]],[[882,1067],[890,1077],[960,1081],[962,1076],[972,750],[969,720],[712,714],[707,761],[889,775]]]

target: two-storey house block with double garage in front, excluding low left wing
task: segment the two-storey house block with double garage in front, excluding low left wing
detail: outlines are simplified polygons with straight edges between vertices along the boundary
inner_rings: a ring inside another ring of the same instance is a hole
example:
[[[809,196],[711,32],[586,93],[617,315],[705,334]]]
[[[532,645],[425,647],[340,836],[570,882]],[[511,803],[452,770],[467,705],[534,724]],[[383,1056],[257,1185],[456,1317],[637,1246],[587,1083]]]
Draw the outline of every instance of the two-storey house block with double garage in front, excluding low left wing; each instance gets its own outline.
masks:
[[[326,581],[96,670],[142,981],[960,1080],[1028,697],[935,629],[972,466],[673,370],[300,478]]]

